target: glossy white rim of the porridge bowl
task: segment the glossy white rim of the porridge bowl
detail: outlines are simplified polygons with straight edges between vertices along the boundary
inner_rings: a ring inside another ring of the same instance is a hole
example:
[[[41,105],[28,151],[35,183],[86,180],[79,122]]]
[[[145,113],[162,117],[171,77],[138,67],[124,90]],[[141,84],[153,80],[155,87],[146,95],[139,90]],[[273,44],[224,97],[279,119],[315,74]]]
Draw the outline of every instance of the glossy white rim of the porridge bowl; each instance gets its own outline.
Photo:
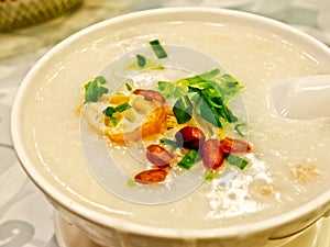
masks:
[[[47,181],[46,178],[42,176],[42,173],[36,169],[36,167],[32,164],[32,160],[29,158],[28,150],[24,148],[24,141],[22,138],[22,125],[23,123],[20,121],[20,115],[22,114],[21,105],[24,104],[24,92],[29,88],[31,83],[31,79],[35,74],[43,67],[43,64],[51,59],[53,55],[56,55],[57,50],[65,47],[66,45],[70,45],[72,42],[78,40],[80,36],[88,35],[101,27],[107,25],[114,25],[124,23],[128,21],[136,20],[136,19],[147,19],[153,15],[166,15],[173,13],[186,13],[186,14],[219,14],[226,15],[234,19],[242,19],[249,22],[253,22],[256,24],[261,24],[264,26],[273,27],[278,32],[284,32],[287,35],[294,35],[299,40],[305,40],[311,46],[317,46],[320,50],[327,53],[330,57],[330,48],[321,43],[320,41],[311,37],[310,35],[299,31],[293,26],[289,26],[279,21],[268,19],[262,15],[248,13],[244,11],[238,10],[229,10],[229,9],[215,9],[215,8],[200,8],[200,7],[177,7],[177,8],[162,8],[162,9],[153,9],[153,10],[143,10],[133,13],[127,13],[123,15],[119,15],[116,18],[111,18],[109,20],[99,22],[89,27],[82,29],[81,31],[70,35],[64,41],[59,42],[57,45],[52,47],[46,54],[44,54],[31,68],[31,70],[26,74],[23,79],[18,93],[14,99],[14,103],[11,111],[11,135],[13,141],[13,146],[18,156],[18,159],[21,162],[21,166],[30,177],[30,179],[38,187],[38,189],[48,197],[52,201],[56,202],[56,204],[61,205],[68,212],[74,215],[78,215],[80,218],[85,218],[88,222],[97,224],[99,226],[114,228],[118,231],[154,236],[154,237],[165,237],[165,238],[234,238],[237,236],[242,235],[251,235],[251,234],[261,234],[266,233],[268,236],[274,232],[274,229],[289,223],[299,220],[302,215],[309,215],[312,212],[318,211],[319,217],[321,217],[327,211],[330,209],[330,190],[319,194],[315,199],[308,201],[304,205],[287,211],[283,214],[275,215],[273,217],[268,217],[265,220],[261,220],[255,223],[245,223],[242,225],[235,226],[224,226],[217,228],[201,228],[201,229],[191,229],[191,228],[166,228],[166,227],[156,227],[143,225],[134,222],[130,222],[128,220],[119,218],[117,216],[107,215],[101,212],[94,211],[86,205],[82,205],[77,200],[74,200],[72,197],[65,194],[64,192],[57,190],[52,186],[52,182]],[[317,220],[317,218],[316,218]]]

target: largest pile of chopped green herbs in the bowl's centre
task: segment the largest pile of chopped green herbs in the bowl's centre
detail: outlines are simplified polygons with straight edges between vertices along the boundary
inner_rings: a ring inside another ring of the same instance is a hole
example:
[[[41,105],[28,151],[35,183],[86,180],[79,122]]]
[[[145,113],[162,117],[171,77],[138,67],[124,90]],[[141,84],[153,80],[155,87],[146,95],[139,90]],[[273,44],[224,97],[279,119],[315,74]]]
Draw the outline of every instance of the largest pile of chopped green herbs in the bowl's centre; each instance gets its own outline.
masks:
[[[178,113],[175,113],[178,123],[189,120],[190,108],[185,106],[190,101],[190,104],[194,102],[194,112],[217,127],[222,127],[222,121],[228,123],[238,121],[227,103],[242,88],[237,79],[228,74],[221,75],[219,69],[184,78],[173,83],[158,82],[160,92],[165,98],[178,99],[177,105],[174,105],[173,109]],[[184,97],[187,98],[184,99]],[[185,109],[187,110],[185,111]],[[184,111],[189,114],[183,114]]]

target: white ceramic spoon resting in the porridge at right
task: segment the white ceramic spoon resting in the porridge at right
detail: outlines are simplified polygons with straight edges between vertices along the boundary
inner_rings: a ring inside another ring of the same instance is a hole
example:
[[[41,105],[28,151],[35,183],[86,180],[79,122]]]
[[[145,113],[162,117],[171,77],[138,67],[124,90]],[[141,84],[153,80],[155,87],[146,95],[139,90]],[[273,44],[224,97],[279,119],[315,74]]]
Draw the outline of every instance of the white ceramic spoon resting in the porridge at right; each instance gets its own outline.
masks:
[[[271,100],[287,119],[330,116],[330,75],[287,78],[271,86]]]

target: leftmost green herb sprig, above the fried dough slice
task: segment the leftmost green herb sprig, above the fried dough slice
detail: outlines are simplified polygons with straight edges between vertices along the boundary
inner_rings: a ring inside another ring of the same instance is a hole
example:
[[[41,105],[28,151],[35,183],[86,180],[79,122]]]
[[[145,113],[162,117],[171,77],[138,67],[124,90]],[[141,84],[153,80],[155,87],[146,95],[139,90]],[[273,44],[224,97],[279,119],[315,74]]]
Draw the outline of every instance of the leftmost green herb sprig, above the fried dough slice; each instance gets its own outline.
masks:
[[[84,88],[85,88],[85,101],[84,103],[89,103],[89,102],[97,102],[98,99],[107,93],[109,90],[102,85],[106,85],[107,80],[105,77],[96,77],[92,81],[88,81]]]

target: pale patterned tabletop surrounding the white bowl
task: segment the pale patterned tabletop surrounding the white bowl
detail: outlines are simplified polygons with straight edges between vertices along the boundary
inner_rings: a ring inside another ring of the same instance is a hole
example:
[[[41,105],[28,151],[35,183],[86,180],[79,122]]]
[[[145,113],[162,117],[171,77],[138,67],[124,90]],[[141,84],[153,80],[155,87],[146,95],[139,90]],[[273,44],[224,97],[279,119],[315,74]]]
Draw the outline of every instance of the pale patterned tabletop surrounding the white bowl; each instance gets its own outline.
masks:
[[[88,25],[116,15],[176,5],[230,8],[260,13],[295,25],[330,45],[330,34],[319,22],[322,8],[314,2],[317,1],[85,0],[80,9],[70,15],[0,33],[0,246],[57,247],[53,207],[22,170],[10,136],[10,111],[16,90],[29,69],[53,45]],[[273,4],[272,8],[265,8],[270,4]]]

